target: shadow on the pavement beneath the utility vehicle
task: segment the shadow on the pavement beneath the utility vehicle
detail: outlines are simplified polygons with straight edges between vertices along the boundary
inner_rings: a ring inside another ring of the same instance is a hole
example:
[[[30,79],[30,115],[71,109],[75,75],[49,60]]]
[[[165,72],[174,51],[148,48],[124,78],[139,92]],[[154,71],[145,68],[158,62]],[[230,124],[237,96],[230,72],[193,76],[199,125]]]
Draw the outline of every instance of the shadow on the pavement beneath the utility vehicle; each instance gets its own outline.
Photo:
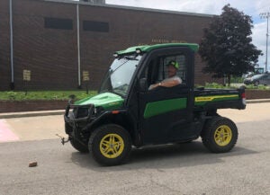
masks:
[[[170,144],[162,146],[147,146],[142,148],[133,148],[130,158],[126,164],[118,166],[103,167],[95,163],[92,155],[74,152],[71,155],[71,161],[81,167],[93,169],[98,172],[122,171],[133,169],[169,169],[175,167],[189,167],[202,164],[220,164],[224,162],[223,158],[229,156],[253,155],[257,151],[235,146],[229,153],[212,154],[200,141],[194,141],[189,144]]]

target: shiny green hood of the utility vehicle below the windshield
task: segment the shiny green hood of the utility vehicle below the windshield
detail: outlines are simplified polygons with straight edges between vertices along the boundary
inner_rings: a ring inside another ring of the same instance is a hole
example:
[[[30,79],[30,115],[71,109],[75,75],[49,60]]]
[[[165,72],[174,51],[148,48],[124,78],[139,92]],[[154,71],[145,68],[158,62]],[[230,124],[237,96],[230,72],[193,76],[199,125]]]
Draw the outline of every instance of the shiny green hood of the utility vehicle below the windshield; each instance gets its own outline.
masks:
[[[105,110],[119,109],[122,106],[123,99],[114,93],[100,93],[94,97],[88,97],[80,101],[76,101],[76,105],[85,105],[93,103],[95,107],[101,106]]]

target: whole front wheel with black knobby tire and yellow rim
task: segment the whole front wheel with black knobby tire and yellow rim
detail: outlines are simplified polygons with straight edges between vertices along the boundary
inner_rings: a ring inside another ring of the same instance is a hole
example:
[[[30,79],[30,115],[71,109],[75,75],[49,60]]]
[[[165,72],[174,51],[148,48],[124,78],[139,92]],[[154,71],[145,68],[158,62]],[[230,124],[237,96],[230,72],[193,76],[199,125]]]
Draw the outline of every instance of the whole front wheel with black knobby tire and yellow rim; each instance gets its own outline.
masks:
[[[88,148],[98,164],[122,164],[130,155],[130,134],[119,125],[104,125],[94,130]]]

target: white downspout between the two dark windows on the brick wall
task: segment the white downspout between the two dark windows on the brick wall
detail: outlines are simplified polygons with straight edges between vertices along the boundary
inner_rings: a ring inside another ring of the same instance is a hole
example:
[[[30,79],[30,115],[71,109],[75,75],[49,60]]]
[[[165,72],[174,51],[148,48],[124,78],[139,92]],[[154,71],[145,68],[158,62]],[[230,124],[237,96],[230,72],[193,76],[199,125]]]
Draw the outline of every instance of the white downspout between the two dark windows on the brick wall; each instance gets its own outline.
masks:
[[[78,88],[81,88],[81,51],[80,51],[80,24],[79,5],[76,4],[76,45],[77,45],[77,76]]]

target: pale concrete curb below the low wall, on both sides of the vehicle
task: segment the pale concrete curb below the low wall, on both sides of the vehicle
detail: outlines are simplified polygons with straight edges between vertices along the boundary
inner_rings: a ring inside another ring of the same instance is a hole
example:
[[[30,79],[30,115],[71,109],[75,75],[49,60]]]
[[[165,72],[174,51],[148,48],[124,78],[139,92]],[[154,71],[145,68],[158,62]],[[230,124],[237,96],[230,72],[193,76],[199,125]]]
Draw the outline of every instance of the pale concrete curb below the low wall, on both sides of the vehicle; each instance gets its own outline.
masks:
[[[262,103],[262,102],[270,102],[270,99],[247,100],[247,103]],[[37,117],[37,116],[49,116],[49,115],[63,115],[64,113],[65,113],[65,110],[7,112],[7,113],[0,113],[0,119]]]

